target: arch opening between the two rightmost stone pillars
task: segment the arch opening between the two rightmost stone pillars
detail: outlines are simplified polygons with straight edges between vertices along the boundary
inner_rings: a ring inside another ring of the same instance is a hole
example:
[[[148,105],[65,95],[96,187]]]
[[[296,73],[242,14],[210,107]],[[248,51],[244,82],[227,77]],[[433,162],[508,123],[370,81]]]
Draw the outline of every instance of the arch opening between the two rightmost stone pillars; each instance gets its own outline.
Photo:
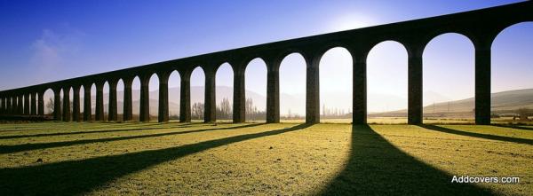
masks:
[[[455,32],[426,43],[422,52],[425,122],[432,121],[428,118],[473,118],[473,102],[453,101],[474,97],[474,51],[473,40]]]

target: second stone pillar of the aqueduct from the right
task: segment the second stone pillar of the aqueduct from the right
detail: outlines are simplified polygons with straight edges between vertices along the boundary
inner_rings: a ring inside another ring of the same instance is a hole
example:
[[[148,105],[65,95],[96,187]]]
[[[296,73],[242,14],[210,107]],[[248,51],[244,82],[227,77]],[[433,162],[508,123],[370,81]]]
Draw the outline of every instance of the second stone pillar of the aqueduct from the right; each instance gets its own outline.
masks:
[[[408,117],[409,124],[422,123],[422,49],[408,52]]]

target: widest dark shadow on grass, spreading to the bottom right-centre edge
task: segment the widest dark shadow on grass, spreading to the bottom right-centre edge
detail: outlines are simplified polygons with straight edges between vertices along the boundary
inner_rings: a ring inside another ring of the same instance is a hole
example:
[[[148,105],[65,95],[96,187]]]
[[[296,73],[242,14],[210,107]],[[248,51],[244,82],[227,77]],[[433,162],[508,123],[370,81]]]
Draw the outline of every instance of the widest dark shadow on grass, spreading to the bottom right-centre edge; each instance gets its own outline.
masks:
[[[457,174],[460,176],[463,174]],[[464,174],[467,175],[467,174]],[[368,125],[354,126],[346,167],[321,195],[490,195],[474,184],[451,184],[446,172],[402,152]]]

